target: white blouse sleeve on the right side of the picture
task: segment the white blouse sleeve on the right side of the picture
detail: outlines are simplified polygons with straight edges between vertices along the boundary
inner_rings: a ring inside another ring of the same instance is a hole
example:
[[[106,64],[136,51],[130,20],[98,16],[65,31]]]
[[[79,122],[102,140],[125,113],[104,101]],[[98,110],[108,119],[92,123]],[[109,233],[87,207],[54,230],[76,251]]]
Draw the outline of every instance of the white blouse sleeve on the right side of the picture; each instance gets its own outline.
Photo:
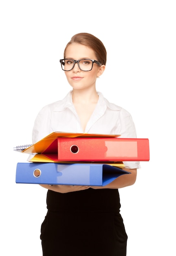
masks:
[[[121,130],[120,135],[121,138],[136,138],[136,128],[130,113],[124,109],[121,109],[120,112],[120,124]],[[135,161],[124,161],[123,164],[126,168],[134,169],[134,168],[141,168],[140,162]]]

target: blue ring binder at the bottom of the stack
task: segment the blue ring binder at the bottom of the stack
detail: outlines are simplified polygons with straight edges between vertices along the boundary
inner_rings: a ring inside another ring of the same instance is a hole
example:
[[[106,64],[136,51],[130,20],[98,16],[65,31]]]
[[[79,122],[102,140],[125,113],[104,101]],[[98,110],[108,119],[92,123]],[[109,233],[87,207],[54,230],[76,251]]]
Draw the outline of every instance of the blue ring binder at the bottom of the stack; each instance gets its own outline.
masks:
[[[18,163],[16,183],[105,186],[129,173],[108,164]]]

